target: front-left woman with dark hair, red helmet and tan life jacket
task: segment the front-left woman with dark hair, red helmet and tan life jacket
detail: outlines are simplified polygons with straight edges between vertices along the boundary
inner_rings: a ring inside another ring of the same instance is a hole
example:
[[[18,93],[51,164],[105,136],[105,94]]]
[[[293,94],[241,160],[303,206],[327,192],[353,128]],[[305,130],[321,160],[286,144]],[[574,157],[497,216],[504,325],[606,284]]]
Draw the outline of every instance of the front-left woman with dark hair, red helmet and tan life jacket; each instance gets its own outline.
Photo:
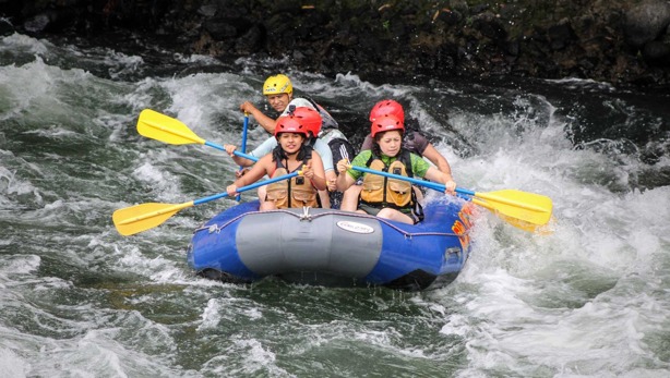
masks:
[[[308,117],[299,118],[295,114],[279,117],[275,137],[277,147],[263,156],[253,164],[249,172],[238,178],[226,187],[230,197],[236,196],[238,187],[253,184],[265,174],[277,178],[295,171],[302,171],[302,175],[290,180],[279,181],[267,185],[265,198],[261,198],[260,210],[273,210],[290,207],[321,207],[318,191],[326,188],[325,172],[319,154],[306,145],[311,122],[321,122],[316,111]],[[230,156],[237,163],[241,158]]]

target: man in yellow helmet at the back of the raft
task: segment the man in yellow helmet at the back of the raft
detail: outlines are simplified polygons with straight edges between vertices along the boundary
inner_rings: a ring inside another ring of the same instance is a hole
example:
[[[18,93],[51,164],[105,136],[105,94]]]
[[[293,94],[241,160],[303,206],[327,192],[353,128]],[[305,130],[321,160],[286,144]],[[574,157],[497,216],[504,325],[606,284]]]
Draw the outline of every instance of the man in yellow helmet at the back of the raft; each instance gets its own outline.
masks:
[[[335,162],[339,161],[342,158],[354,156],[354,148],[347,137],[339,131],[337,122],[325,109],[323,109],[323,107],[313,100],[309,98],[294,98],[294,86],[288,76],[284,74],[267,77],[263,84],[263,95],[267,98],[270,106],[276,110],[279,115],[286,115],[291,108],[300,107],[308,107],[319,111],[323,123],[320,134],[314,135],[314,138],[318,139],[314,141],[313,147],[323,158],[328,188],[334,191],[336,187],[335,180],[337,178],[337,172],[334,170]],[[240,105],[240,110],[251,114],[263,129],[274,134],[277,123],[276,119],[265,115],[250,101],[244,101]],[[250,155],[263,156],[275,146],[273,143],[276,143],[274,138],[268,138],[265,143],[251,151]],[[330,203],[333,207],[339,207],[342,193],[331,192],[328,196],[327,192],[321,192],[320,196],[323,207],[328,207],[325,203]]]

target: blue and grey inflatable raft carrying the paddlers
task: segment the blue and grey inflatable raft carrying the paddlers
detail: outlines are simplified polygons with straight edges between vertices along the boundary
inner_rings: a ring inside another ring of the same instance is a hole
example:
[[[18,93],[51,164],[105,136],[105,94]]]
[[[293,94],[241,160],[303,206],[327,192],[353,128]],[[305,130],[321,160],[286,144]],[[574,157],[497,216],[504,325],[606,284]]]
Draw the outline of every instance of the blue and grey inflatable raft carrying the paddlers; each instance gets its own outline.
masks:
[[[423,290],[452,282],[469,252],[472,205],[440,197],[405,224],[331,209],[258,211],[234,206],[195,230],[189,265],[201,276],[251,283],[265,277],[324,286]]]

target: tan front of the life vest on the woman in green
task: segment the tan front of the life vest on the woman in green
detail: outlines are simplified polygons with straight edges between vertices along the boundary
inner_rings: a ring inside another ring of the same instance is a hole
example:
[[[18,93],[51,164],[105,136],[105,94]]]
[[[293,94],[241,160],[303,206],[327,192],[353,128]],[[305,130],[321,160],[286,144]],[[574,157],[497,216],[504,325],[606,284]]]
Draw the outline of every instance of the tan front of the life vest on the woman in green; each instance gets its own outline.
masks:
[[[395,160],[386,170],[385,164],[380,159],[374,159],[368,166],[376,171],[385,171],[407,176],[405,164],[400,160]],[[363,176],[363,190],[360,198],[367,205],[373,207],[390,206],[396,209],[411,209],[412,188],[411,183],[403,180],[391,179],[380,174],[366,173]]]

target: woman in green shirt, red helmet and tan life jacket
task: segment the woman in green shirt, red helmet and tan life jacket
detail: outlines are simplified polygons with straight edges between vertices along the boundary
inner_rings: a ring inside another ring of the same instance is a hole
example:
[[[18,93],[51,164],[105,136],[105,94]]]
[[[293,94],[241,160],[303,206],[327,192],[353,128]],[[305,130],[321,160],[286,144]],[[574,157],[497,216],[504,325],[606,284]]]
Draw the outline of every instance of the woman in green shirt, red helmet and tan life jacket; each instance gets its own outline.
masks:
[[[409,178],[426,178],[445,185],[444,193],[454,195],[456,183],[446,174],[424,161],[420,156],[403,148],[405,125],[395,115],[376,118],[370,126],[374,144],[372,149],[363,150],[350,162],[351,166],[366,167]],[[337,188],[346,191],[362,178],[357,212],[369,214],[404,223],[414,224],[422,220],[422,210],[416,198],[411,183],[373,173],[362,173],[348,167],[342,159],[337,162]],[[346,174],[344,174],[346,172]]]

